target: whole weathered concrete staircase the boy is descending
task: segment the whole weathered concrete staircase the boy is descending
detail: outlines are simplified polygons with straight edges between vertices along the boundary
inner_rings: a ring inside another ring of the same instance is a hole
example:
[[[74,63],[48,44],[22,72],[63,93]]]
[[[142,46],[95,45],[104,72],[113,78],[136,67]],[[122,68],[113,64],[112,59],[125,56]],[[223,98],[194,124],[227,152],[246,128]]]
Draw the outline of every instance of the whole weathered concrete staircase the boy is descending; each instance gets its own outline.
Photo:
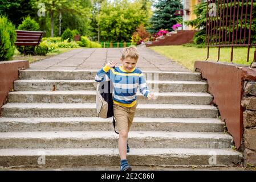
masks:
[[[151,73],[159,76],[159,95],[155,101],[138,96],[128,139],[129,163],[241,163],[242,155],[231,149],[232,138],[224,133],[217,108],[210,105],[212,96],[200,73]],[[2,107],[0,166],[119,166],[112,119],[96,117],[95,75],[96,71],[20,71],[15,92]]]

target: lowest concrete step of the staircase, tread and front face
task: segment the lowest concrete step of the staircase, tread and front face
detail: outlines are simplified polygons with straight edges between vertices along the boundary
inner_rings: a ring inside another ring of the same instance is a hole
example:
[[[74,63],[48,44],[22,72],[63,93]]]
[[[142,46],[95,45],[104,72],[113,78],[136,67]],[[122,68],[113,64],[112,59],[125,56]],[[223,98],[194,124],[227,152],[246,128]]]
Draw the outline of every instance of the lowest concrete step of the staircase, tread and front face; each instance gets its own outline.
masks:
[[[131,166],[214,167],[241,163],[242,154],[218,148],[131,148],[127,159]],[[117,148],[0,149],[2,167],[119,166],[119,163]]]

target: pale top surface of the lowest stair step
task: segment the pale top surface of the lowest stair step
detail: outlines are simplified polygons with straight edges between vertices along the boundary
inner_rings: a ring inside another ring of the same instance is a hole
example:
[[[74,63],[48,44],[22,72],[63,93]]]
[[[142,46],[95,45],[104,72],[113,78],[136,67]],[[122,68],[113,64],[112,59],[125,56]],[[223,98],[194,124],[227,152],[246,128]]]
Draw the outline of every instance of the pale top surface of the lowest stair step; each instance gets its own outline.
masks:
[[[7,148],[0,149],[0,156],[38,156],[51,155],[119,155],[118,148]],[[231,148],[132,148],[127,155],[177,155],[182,157],[190,155],[239,155],[241,152]]]

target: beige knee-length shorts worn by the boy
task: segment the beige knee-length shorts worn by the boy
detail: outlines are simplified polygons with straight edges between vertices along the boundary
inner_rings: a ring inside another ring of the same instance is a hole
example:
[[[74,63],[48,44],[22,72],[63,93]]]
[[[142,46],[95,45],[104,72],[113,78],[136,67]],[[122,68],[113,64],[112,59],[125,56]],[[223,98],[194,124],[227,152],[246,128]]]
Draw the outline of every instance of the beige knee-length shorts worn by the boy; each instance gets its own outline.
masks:
[[[125,107],[117,104],[113,104],[114,116],[116,119],[116,128],[118,131],[130,130],[132,121],[135,115],[137,102],[132,107]]]

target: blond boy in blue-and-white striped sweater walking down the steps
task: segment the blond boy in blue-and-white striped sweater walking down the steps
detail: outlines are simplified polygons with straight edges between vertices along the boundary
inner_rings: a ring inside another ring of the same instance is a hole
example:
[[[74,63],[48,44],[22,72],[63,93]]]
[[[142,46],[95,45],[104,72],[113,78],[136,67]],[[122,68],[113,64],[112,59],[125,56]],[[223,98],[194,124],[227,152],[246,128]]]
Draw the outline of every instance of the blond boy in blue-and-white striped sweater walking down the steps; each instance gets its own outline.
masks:
[[[149,100],[155,100],[153,93],[149,92],[145,77],[140,69],[136,68],[139,53],[136,47],[123,49],[120,67],[115,67],[117,63],[108,61],[105,67],[101,68],[95,77],[95,81],[113,82],[113,112],[116,119],[116,127],[119,130],[119,154],[121,158],[120,170],[131,171],[126,159],[129,152],[127,138],[132,125],[133,117],[137,106],[137,89]]]

